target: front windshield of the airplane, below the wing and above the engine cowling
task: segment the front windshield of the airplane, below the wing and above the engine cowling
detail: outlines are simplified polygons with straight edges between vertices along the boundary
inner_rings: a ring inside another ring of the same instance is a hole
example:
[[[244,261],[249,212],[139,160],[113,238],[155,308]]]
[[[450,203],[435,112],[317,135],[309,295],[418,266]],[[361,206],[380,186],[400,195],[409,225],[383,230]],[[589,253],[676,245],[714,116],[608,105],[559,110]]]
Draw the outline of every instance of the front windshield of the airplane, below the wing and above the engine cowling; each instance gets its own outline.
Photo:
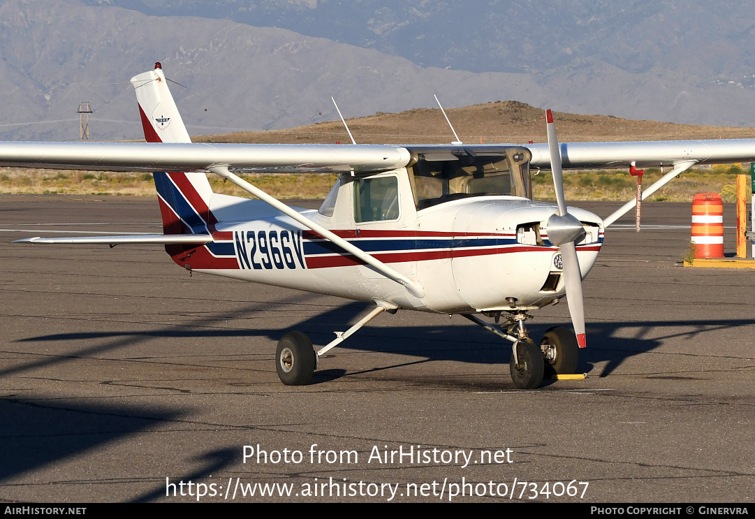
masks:
[[[420,156],[411,169],[417,209],[467,196],[512,193],[509,164],[501,156],[453,156],[448,153],[437,160],[428,154]]]

